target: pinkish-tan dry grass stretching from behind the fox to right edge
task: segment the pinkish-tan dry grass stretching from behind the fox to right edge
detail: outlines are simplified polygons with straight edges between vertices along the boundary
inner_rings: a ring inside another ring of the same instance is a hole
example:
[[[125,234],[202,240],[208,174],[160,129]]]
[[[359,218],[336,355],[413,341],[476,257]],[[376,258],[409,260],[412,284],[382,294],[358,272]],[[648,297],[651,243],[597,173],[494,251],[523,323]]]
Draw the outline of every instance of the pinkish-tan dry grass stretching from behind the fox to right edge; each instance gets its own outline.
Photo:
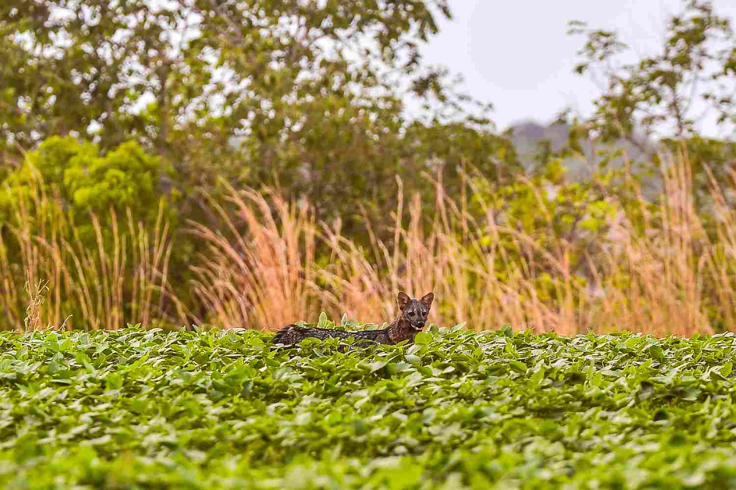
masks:
[[[210,243],[196,269],[197,295],[213,322],[266,330],[314,321],[320,309],[333,318],[347,312],[361,321],[390,321],[399,290],[417,297],[434,290],[435,323],[466,322],[475,330],[509,324],[560,334],[627,329],[689,336],[735,329],[736,214],[726,195],[736,180],[728,189],[712,181],[718,220],[709,237],[694,205],[687,157],[663,161],[659,209],[651,212],[641,195],[637,203],[645,231],[623,212],[611,217],[606,239],[585,252],[584,273],[572,260],[579,244],[551,233],[553,216],[541,195],[539,213],[549,225],[540,231],[543,243],[513,223],[498,223],[488,203],[481,202],[482,219],[473,220],[467,202],[446,195],[441,181],[434,182],[426,226],[419,198],[407,204],[399,183],[392,242],[377,239],[367,223],[372,246],[364,250],[341,233],[339,221],[314,223],[303,202],[272,195],[274,215],[266,196],[233,191],[230,202],[247,231],[238,234],[230,221],[233,241],[195,227]],[[328,263],[314,264],[315,241],[330,251]],[[551,294],[540,291],[542,276]]]

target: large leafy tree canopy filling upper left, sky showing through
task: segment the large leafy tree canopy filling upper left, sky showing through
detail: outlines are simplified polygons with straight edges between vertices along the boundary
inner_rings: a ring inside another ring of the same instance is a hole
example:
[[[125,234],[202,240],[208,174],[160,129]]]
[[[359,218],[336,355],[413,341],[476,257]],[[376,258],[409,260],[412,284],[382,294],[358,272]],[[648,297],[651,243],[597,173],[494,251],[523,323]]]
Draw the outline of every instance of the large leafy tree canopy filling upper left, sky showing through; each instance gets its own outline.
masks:
[[[465,100],[422,65],[436,15],[450,15],[446,0],[10,0],[0,146],[72,134],[104,153],[136,140],[173,165],[185,215],[198,212],[195,188],[224,177],[279,184],[319,219],[357,226],[361,204],[377,216],[394,207],[396,173],[422,190],[443,156],[447,181],[460,156],[491,174],[499,165],[486,152],[501,138],[457,110],[442,118]],[[407,91],[439,102],[438,117],[411,126]]]

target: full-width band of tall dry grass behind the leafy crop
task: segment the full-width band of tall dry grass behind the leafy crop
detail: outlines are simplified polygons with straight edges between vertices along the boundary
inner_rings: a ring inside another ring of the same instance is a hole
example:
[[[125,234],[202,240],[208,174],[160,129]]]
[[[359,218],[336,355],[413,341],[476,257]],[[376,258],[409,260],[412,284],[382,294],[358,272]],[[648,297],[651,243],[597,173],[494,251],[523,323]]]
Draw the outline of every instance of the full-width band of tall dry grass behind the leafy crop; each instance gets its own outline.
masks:
[[[322,310],[390,321],[398,291],[419,297],[432,290],[432,321],[475,330],[736,330],[736,175],[721,184],[711,176],[712,203],[698,212],[687,156],[662,162],[657,207],[640,193],[631,214],[631,204],[609,196],[618,212],[586,246],[553,232],[558,217],[541,188],[534,189],[543,224],[530,232],[484,202],[472,179],[460,196],[432,181],[429,213],[397,181],[392,228],[367,222],[365,248],[342,234],[339,220],[316,223],[305,201],[230,188],[224,202],[208,199],[222,227],[191,223],[206,249],[191,264],[187,292],[169,284],[173,248],[163,208],[151,229],[130,213],[123,226],[113,211],[93,216],[88,247],[74,238],[75,223],[59,212],[57,196],[39,185],[0,234],[0,309],[4,325],[17,330],[157,321],[273,330],[314,321]],[[482,212],[468,211],[470,195]],[[11,261],[11,250],[19,259]]]

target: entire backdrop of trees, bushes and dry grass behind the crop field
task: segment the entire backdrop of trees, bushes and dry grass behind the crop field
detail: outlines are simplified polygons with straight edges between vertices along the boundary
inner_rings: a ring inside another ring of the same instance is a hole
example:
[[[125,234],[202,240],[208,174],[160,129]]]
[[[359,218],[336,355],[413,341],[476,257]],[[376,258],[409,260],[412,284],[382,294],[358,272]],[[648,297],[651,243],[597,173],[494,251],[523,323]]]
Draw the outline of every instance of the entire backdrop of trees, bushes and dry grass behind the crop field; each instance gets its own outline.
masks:
[[[735,329],[736,143],[693,115],[736,127],[729,20],[687,1],[635,62],[572,23],[595,114],[501,133],[422,62],[450,15],[4,1],[0,328],[380,322],[434,289],[475,329]]]

